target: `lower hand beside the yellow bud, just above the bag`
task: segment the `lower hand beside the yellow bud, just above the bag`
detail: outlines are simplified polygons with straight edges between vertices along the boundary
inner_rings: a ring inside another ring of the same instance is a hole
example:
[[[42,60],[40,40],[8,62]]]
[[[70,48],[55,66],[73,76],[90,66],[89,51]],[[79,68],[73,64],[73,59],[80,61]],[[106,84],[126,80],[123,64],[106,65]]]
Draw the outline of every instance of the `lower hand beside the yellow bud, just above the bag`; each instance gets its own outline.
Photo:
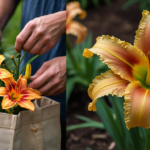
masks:
[[[66,56],[45,62],[30,80],[29,87],[45,96],[62,93],[66,89]]]

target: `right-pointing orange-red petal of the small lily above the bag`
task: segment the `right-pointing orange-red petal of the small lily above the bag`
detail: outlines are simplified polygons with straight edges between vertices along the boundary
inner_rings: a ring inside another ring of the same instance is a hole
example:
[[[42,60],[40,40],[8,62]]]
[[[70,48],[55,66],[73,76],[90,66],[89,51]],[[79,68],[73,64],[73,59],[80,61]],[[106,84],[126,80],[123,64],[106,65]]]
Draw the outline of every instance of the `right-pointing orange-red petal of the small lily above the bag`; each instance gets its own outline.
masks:
[[[32,88],[23,89],[20,93],[22,94],[23,99],[26,100],[34,100],[41,98],[41,93],[38,90],[33,90]]]

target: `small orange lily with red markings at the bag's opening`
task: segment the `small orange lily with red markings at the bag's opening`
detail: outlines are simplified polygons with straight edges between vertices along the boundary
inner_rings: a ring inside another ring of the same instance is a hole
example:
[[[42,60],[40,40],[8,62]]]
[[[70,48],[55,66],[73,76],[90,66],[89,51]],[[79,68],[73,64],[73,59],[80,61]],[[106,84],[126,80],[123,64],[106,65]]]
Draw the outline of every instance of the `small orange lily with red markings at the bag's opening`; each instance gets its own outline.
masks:
[[[3,72],[4,69],[0,69]],[[8,73],[9,74],[9,73]],[[0,79],[5,83],[6,87],[0,87],[0,96],[4,96],[2,100],[2,108],[9,109],[19,104],[21,107],[34,111],[35,107],[31,100],[40,99],[41,93],[37,90],[27,87],[27,79],[20,75],[16,82],[13,76]]]

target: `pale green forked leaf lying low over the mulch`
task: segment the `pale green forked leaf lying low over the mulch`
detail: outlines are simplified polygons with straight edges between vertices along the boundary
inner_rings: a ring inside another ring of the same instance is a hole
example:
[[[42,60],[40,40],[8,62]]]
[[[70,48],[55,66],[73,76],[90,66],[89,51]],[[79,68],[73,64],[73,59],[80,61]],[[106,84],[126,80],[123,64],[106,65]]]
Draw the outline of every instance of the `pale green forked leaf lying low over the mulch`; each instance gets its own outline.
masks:
[[[81,115],[77,115],[76,118],[78,118],[82,121],[85,121],[85,123],[68,126],[67,131],[75,130],[75,129],[79,129],[79,128],[89,128],[89,127],[104,129],[104,125],[101,122],[89,119],[89,118],[87,118],[85,116],[81,116]]]

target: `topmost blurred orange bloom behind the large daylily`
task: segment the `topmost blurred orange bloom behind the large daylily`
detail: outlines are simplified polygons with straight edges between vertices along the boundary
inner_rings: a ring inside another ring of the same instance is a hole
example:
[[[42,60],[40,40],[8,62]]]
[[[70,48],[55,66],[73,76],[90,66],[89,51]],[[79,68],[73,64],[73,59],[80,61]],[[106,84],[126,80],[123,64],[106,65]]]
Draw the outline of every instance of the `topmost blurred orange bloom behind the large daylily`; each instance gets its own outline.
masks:
[[[78,2],[68,3],[66,24],[68,25],[77,15],[79,15],[80,19],[84,19],[86,17],[86,11],[80,8],[80,4]]]

